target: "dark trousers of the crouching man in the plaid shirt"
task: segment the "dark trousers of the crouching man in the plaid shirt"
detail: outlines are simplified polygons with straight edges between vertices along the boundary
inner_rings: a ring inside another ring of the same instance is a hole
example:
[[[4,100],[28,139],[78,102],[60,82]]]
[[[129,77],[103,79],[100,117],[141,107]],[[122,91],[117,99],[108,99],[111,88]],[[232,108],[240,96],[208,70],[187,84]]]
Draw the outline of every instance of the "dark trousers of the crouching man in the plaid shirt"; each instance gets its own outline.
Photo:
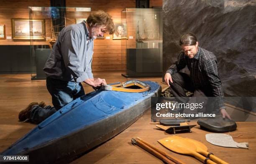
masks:
[[[195,88],[194,84],[191,81],[191,78],[186,73],[174,73],[172,75],[172,81],[170,84],[170,88],[172,90],[172,93],[176,100],[180,103],[202,103],[202,108],[184,108],[183,113],[187,114],[197,114],[199,112],[202,113],[209,113],[211,112],[210,109],[213,108],[213,104],[210,103],[209,97],[212,97],[212,94],[210,93],[210,89],[203,89],[203,88]],[[187,91],[193,92],[193,97],[186,97],[186,92],[184,91],[186,89]],[[206,109],[209,108],[209,110],[206,111]],[[192,110],[193,109],[193,110]]]

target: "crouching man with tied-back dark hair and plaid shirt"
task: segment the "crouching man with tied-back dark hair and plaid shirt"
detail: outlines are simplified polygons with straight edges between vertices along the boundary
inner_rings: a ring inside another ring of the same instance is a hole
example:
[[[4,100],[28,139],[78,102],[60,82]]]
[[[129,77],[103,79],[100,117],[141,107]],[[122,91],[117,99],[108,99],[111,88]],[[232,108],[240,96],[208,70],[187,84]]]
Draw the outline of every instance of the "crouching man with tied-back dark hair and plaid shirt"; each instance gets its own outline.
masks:
[[[179,53],[178,60],[175,61],[166,71],[164,80],[168,86],[170,86],[173,95],[179,102],[182,103],[202,103],[204,102],[204,108],[190,110],[185,108],[184,113],[198,113],[198,112],[220,112],[223,118],[230,116],[225,110],[224,94],[221,86],[221,80],[218,74],[218,65],[216,56],[198,45],[197,38],[192,33],[184,33],[179,41],[179,45],[182,51]],[[185,66],[190,71],[190,76],[186,73],[179,72]],[[194,93],[194,97],[191,99],[185,98],[186,94],[184,88],[187,91]],[[214,102],[210,102],[209,98],[215,97]],[[200,99],[200,101],[198,101]],[[215,103],[212,111],[207,109],[205,111],[206,104]],[[215,109],[213,109],[215,108]]]

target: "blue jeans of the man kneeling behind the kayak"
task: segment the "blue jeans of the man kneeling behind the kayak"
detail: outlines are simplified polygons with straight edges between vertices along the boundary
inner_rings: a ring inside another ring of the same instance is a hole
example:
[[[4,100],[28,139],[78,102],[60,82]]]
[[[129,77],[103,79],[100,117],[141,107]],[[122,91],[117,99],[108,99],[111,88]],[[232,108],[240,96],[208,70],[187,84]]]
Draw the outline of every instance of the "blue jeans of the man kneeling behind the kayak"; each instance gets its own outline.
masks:
[[[31,109],[32,121],[44,121],[67,103],[85,94],[82,84],[74,81],[61,81],[53,78],[46,78],[46,86],[51,94],[51,100],[54,107],[45,106],[44,108],[41,108],[38,105],[33,106]]]

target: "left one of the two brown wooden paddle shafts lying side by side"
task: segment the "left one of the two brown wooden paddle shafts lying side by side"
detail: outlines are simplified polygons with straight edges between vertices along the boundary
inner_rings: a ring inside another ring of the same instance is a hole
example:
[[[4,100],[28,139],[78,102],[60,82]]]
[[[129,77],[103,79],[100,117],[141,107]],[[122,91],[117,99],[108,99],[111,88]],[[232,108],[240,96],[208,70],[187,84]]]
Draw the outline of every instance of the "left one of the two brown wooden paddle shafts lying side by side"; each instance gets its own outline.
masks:
[[[134,139],[135,140],[135,139]],[[133,139],[132,139],[133,142]],[[169,160],[168,158],[166,158],[165,156],[163,156],[162,154],[160,154],[159,152],[155,151],[154,149],[151,149],[149,146],[147,146],[146,144],[143,144],[143,142],[139,141],[139,140],[135,140],[135,142],[133,142],[134,144],[140,146],[142,149],[148,151],[150,154],[153,154],[154,156],[156,156],[157,158],[161,159],[162,161],[164,161],[164,163],[166,164],[175,164],[174,162],[172,162],[171,160]]]

